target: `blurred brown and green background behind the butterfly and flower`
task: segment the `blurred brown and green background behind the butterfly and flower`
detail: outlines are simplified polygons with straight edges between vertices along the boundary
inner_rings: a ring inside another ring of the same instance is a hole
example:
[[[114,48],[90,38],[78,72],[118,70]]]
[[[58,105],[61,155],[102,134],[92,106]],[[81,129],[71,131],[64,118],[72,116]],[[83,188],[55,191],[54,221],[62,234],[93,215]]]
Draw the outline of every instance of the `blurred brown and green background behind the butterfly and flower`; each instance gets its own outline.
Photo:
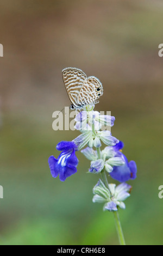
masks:
[[[56,144],[79,135],[52,129],[52,113],[70,105],[67,66],[102,82],[96,110],[116,117],[112,135],[137,163],[120,210],[127,244],[162,245],[162,15],[162,0],[0,2],[1,245],[118,244],[114,217],[92,203],[90,162],[78,153],[78,172],[65,182],[49,172]]]

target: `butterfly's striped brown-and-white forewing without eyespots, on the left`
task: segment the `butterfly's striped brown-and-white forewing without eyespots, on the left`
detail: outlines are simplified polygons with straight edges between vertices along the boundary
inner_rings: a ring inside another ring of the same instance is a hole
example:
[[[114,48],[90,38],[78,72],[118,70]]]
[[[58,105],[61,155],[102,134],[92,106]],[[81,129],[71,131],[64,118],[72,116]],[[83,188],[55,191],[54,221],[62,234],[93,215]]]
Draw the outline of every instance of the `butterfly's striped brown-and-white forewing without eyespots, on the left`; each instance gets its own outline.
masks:
[[[77,68],[65,68],[62,70],[62,78],[66,87],[68,97],[72,104],[77,107],[78,95],[83,87],[86,75]]]

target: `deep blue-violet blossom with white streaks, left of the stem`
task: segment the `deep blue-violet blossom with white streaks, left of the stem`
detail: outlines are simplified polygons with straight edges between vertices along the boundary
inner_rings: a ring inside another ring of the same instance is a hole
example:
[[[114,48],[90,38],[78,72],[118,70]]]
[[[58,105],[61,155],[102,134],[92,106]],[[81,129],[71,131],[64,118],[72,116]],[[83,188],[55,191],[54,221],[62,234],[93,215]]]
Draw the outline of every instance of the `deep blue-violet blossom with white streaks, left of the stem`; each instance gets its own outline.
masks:
[[[54,156],[49,157],[49,168],[53,178],[59,174],[59,179],[65,181],[67,177],[77,172],[78,159],[75,154],[77,145],[74,142],[61,141],[56,148],[62,153],[58,159],[55,159]]]

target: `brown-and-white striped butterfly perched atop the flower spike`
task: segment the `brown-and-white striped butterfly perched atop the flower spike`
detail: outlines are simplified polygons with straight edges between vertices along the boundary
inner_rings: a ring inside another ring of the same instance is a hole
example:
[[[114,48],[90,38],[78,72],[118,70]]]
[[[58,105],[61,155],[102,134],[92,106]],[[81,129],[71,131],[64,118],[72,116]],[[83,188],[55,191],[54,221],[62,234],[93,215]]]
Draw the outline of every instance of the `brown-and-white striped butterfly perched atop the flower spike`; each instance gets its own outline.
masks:
[[[98,78],[87,77],[81,69],[65,68],[62,70],[62,78],[72,103],[71,109],[96,104],[99,102],[97,99],[103,95],[103,86]]]

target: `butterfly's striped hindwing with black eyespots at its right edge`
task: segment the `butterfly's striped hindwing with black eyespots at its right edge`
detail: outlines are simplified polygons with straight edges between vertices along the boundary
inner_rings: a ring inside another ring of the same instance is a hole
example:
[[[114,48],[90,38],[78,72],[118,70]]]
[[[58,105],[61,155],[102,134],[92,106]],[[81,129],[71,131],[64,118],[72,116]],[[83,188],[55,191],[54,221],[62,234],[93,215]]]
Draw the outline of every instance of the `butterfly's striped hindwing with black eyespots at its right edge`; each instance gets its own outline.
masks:
[[[84,81],[82,88],[78,95],[78,105],[89,105],[97,103],[96,101],[103,95],[102,83],[95,76],[89,76]]]

